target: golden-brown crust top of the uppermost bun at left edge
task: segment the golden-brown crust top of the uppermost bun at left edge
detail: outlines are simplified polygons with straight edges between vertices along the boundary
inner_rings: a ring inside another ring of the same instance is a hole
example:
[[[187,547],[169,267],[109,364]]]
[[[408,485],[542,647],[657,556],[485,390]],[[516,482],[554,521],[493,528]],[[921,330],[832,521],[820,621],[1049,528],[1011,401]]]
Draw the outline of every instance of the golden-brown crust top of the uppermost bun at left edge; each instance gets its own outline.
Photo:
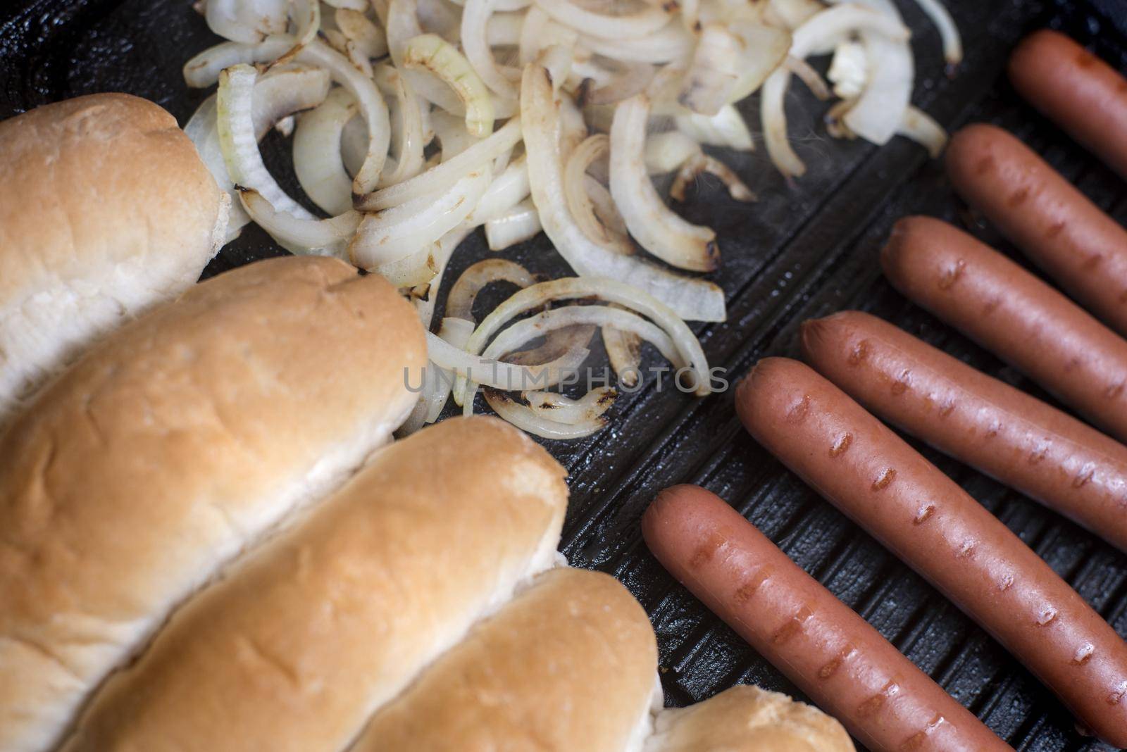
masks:
[[[222,191],[151,101],[37,107],[0,123],[0,308],[117,263],[153,280],[187,266],[194,280],[218,250]]]

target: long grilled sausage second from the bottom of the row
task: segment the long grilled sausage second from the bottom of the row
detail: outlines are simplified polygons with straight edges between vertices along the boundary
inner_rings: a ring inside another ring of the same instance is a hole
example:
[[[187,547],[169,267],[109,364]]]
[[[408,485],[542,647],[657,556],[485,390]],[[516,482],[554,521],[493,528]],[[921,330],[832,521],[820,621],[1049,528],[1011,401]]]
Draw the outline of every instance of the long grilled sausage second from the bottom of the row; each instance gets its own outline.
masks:
[[[761,360],[755,439],[990,632],[1099,736],[1127,745],[1127,644],[996,517],[808,366]]]

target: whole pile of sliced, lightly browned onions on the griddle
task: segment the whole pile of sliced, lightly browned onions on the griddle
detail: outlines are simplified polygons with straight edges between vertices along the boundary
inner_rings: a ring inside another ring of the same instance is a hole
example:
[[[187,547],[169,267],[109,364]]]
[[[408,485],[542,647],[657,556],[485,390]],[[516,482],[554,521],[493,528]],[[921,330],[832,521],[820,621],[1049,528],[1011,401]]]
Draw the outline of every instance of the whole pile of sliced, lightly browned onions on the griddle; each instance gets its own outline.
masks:
[[[942,0],[917,2],[953,68],[961,42]],[[479,386],[536,436],[600,430],[612,387],[553,391],[596,330],[622,386],[639,384],[649,343],[678,385],[707,394],[685,322],[726,319],[724,292],[698,276],[718,269],[718,243],[673,206],[704,173],[754,200],[724,162],[755,147],[736,106],[749,95],[761,92],[767,152],[788,179],[806,169],[787,136],[792,74],[836,98],[832,136],[900,135],[933,155],[947,141],[911,105],[914,61],[893,0],[207,0],[201,12],[225,41],[185,63],[188,86],[219,84],[185,131],[238,198],[228,239],[255,222],[412,301],[437,333],[408,431],[451,395],[472,412]],[[828,54],[826,81],[807,59]],[[263,161],[272,128],[293,138],[309,205]],[[460,276],[436,320],[447,266],[478,227],[492,251],[544,232],[577,276],[536,281],[489,259]],[[477,324],[477,294],[492,281],[522,289]]]

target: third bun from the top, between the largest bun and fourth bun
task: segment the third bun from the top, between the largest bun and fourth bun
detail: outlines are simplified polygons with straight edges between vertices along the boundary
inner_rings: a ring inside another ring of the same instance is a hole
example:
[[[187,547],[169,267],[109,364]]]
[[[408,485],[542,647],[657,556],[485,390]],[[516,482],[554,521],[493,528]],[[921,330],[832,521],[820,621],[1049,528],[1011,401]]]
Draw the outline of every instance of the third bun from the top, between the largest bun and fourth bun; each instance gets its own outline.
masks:
[[[492,418],[392,444],[175,614],[63,749],[345,749],[375,708],[552,565],[564,475]]]

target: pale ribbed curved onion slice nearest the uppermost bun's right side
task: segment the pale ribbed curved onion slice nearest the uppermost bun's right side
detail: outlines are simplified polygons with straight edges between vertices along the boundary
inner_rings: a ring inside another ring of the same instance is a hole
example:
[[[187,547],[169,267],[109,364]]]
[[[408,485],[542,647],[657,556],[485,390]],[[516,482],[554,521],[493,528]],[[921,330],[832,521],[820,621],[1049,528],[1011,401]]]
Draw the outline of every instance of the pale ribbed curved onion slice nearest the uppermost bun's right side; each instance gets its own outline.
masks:
[[[311,220],[313,215],[282,190],[258,151],[251,117],[257,79],[258,70],[246,64],[232,65],[220,73],[215,125],[227,172],[237,186],[254,188],[276,211]]]

